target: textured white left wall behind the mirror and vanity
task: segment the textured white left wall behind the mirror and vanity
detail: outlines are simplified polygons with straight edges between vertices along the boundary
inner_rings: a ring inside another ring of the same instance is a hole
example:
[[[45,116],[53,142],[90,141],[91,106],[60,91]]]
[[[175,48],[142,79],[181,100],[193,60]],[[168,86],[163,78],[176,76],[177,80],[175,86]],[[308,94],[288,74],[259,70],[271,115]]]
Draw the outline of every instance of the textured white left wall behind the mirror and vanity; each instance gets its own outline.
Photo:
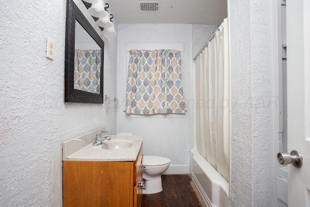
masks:
[[[63,102],[65,18],[65,0],[1,1],[1,207],[62,206],[62,142],[102,126],[116,133],[105,105]],[[104,93],[113,97],[117,37],[105,46]]]

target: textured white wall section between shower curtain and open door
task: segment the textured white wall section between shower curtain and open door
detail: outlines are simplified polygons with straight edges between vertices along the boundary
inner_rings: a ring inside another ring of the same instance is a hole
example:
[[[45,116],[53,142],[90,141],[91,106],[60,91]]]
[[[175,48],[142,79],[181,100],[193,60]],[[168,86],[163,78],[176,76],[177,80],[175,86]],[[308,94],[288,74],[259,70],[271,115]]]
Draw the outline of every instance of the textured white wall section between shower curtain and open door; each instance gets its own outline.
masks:
[[[229,0],[232,206],[274,206],[278,139],[277,11],[269,0]]]

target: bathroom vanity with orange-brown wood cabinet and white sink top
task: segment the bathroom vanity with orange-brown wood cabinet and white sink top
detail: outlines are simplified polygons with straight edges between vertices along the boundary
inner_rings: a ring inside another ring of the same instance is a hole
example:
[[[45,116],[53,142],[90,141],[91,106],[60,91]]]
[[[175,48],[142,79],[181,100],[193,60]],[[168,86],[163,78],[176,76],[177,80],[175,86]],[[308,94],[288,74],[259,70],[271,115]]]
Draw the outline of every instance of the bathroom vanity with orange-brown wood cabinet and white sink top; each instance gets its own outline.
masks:
[[[63,143],[63,207],[140,207],[143,137],[109,135],[93,146],[96,133]]]

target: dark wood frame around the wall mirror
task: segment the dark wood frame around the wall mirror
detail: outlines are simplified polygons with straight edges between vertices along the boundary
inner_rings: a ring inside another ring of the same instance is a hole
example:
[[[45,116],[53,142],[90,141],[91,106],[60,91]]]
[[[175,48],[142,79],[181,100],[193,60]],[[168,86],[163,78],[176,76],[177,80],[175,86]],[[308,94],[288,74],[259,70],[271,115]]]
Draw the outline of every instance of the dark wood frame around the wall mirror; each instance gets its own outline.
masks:
[[[74,51],[76,20],[101,48],[100,94],[74,89]],[[103,103],[104,42],[73,0],[67,0],[64,64],[64,102]]]

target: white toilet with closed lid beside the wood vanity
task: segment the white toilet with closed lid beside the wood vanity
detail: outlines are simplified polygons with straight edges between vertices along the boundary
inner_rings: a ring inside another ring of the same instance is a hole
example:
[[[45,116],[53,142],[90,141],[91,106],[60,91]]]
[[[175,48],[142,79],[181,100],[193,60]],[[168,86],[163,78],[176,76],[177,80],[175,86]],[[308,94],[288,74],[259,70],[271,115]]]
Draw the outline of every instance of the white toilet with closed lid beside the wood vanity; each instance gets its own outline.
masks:
[[[143,194],[153,194],[163,190],[161,175],[168,169],[170,159],[158,156],[143,156]]]

